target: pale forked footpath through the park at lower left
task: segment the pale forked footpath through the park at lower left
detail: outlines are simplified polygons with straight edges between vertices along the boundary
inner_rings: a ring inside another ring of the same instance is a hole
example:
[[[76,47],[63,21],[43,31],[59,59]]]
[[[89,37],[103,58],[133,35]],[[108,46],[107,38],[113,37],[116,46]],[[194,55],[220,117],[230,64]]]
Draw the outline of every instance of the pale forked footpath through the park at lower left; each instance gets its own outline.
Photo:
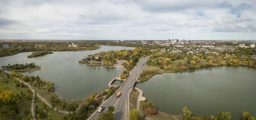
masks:
[[[18,79],[18,78],[16,78],[16,77],[14,77],[14,78],[15,78],[16,80],[19,80],[20,82],[23,82],[22,80],[20,80],[20,79]],[[31,112],[32,112],[32,116],[33,116],[33,114],[34,114],[34,96],[35,96],[35,90],[32,89],[32,87],[30,87],[28,83],[25,83],[25,82],[23,82],[23,83],[24,83],[26,86],[28,86],[29,89],[31,89],[31,91],[33,92],[33,100],[32,100],[33,102],[32,102],[32,104],[31,104]],[[41,97],[41,95],[37,94],[37,97],[40,98],[42,101],[44,101],[47,106],[49,106],[49,107],[52,108],[52,106],[51,106],[43,97]],[[33,111],[32,111],[32,107],[33,107]],[[57,109],[54,108],[54,110],[56,111]],[[61,110],[61,109],[59,109],[58,112],[64,113],[64,114],[73,113],[72,111],[69,112],[69,111],[64,111],[64,110]],[[34,114],[34,116],[35,116],[35,114]],[[34,117],[33,117],[33,118],[34,118]]]

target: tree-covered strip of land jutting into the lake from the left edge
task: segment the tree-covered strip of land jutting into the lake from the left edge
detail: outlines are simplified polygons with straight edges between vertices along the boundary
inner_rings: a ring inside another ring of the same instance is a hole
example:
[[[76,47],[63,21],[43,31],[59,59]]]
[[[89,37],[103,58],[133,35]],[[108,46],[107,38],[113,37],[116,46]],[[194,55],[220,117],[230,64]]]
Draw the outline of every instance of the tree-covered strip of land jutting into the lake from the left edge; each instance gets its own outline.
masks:
[[[38,64],[33,63],[26,63],[26,64],[13,64],[8,66],[2,66],[2,68],[6,68],[8,70],[16,70],[16,71],[37,71],[41,69],[41,66],[38,66]]]

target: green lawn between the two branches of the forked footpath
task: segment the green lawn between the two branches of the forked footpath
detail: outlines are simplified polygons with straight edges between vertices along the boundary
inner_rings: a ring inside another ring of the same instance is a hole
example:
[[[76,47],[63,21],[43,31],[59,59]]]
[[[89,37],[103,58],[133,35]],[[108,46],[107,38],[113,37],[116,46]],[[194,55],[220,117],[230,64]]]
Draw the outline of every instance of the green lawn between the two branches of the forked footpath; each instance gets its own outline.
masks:
[[[35,106],[38,106],[38,111],[44,111],[44,106],[41,103],[41,100],[38,99],[37,101],[34,102],[34,111],[35,111]],[[47,117],[48,117],[48,113],[50,114],[50,117],[52,120],[61,120],[61,117],[64,115],[63,113],[54,111],[52,108],[50,108],[49,106],[47,106]],[[35,114],[36,116],[36,114]],[[47,117],[44,118],[40,118],[41,120],[47,120]],[[38,118],[37,118],[38,119]],[[39,120],[39,119],[38,119]]]

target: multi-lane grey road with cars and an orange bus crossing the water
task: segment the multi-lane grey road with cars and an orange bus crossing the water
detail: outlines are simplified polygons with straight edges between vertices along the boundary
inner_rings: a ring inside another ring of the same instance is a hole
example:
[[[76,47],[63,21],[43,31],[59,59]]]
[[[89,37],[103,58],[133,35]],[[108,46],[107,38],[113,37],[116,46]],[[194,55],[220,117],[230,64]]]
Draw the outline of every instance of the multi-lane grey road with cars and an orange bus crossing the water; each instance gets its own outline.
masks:
[[[102,106],[104,106],[104,109],[102,112],[106,112],[108,110],[108,106],[114,106],[115,107],[114,120],[125,119],[125,104],[128,99],[128,93],[131,91],[131,89],[128,89],[128,86],[131,86],[131,88],[134,86],[134,83],[136,82],[140,73],[143,71],[143,69],[146,66],[146,64],[143,65],[143,63],[146,63],[145,61],[147,60],[147,58],[148,57],[146,57],[145,59],[144,58],[140,59],[137,66],[135,66],[134,69],[131,71],[130,76],[125,81],[125,83],[123,83],[120,89],[112,97],[108,98],[106,103],[102,104]],[[137,75],[137,73],[139,73],[139,75]],[[116,94],[119,91],[121,92],[121,95],[119,98],[116,98]],[[88,120],[97,120],[97,117],[100,114],[97,111]]]

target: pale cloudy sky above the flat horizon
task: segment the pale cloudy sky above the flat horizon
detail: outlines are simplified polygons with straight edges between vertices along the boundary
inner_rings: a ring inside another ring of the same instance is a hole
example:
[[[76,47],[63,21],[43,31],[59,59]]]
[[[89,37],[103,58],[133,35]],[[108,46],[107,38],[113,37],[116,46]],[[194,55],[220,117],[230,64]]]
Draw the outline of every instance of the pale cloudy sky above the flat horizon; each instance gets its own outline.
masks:
[[[256,0],[0,0],[0,39],[256,40]]]

